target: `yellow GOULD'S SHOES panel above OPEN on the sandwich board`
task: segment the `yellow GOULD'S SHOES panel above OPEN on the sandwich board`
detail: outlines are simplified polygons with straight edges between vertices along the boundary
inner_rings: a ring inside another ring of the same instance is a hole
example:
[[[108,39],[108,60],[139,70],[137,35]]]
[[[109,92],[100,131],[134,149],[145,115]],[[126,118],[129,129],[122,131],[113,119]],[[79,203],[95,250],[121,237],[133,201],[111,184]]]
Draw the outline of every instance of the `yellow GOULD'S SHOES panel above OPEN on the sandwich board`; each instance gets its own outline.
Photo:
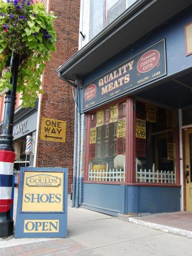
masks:
[[[21,212],[63,212],[63,172],[24,172]]]

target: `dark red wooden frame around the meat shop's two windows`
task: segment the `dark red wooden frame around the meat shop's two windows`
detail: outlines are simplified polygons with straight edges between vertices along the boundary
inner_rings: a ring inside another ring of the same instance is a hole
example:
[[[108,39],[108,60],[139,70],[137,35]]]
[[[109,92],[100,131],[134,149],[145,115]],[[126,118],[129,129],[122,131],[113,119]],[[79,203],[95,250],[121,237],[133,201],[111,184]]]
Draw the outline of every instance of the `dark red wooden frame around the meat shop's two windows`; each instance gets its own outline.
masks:
[[[85,140],[85,166],[84,166],[84,183],[101,183],[101,184],[112,184],[112,185],[132,185],[138,187],[181,187],[180,185],[180,154],[179,154],[179,126],[176,126],[176,183],[141,183],[136,182],[136,170],[135,170],[135,101],[137,98],[133,96],[126,96],[118,101],[110,102],[110,104],[99,106],[98,108],[91,110],[86,113],[86,140]],[[168,108],[155,102],[143,101],[144,103],[151,103],[157,105],[157,107]],[[93,113],[103,110],[104,108],[111,107],[119,103],[126,102],[126,179],[125,182],[102,182],[102,181],[91,181],[88,180],[88,166],[89,166],[89,141],[90,141],[90,116]],[[168,108],[172,109],[172,108]],[[177,120],[178,118],[176,118]],[[177,121],[178,122],[178,121]]]

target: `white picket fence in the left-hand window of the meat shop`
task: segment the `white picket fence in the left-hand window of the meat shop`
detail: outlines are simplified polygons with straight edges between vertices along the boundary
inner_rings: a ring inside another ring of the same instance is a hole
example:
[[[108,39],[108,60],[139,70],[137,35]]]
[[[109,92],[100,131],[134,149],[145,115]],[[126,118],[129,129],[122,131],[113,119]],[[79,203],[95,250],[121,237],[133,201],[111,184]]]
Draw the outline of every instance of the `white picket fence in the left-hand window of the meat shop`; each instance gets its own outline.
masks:
[[[126,171],[123,169],[89,169],[88,180],[99,182],[125,182]]]

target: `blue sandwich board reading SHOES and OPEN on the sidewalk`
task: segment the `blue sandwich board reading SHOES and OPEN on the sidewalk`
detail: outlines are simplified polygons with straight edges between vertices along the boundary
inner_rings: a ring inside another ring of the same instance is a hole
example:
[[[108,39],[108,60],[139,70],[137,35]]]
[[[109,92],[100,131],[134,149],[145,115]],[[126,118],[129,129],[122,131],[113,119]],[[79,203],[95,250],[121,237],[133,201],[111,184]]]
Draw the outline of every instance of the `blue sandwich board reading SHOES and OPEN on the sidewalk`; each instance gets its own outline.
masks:
[[[15,238],[67,236],[67,168],[22,167]]]

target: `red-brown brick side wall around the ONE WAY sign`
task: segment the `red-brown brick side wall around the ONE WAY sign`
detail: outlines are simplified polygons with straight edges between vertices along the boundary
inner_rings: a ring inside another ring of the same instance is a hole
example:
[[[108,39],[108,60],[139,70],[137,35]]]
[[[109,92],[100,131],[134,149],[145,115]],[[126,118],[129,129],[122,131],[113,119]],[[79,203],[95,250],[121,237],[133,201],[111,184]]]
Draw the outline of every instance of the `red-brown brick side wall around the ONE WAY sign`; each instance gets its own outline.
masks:
[[[58,78],[56,69],[78,50],[80,0],[50,0],[50,10],[58,18],[57,52],[52,54],[43,76],[41,117],[60,119],[66,124],[66,143],[38,140],[37,166],[69,169],[69,191],[73,182],[74,100],[72,88]],[[41,126],[41,121],[40,121]]]

